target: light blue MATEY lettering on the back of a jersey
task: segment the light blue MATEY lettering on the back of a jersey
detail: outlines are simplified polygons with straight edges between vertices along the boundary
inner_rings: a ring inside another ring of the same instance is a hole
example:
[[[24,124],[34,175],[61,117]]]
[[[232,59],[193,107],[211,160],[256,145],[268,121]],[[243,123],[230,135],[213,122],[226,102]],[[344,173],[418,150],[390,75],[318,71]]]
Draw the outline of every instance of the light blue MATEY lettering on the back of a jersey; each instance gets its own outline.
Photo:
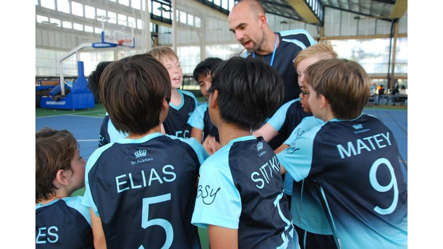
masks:
[[[365,137],[363,139],[357,139],[355,141],[348,141],[346,145],[337,145],[337,150],[340,154],[340,158],[351,157],[360,155],[362,151],[373,151],[391,146],[391,140],[389,132],[380,133],[374,136]]]

